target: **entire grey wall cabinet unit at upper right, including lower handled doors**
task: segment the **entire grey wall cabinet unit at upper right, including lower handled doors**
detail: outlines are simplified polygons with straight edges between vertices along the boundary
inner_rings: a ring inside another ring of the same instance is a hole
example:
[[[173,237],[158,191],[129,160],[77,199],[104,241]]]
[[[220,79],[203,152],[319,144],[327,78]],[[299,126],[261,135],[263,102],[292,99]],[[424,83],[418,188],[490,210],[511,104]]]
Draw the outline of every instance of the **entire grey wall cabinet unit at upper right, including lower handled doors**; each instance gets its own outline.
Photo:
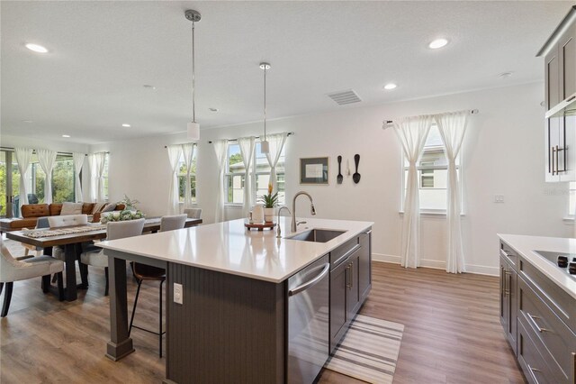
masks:
[[[576,181],[576,5],[537,56],[545,58],[545,180]]]

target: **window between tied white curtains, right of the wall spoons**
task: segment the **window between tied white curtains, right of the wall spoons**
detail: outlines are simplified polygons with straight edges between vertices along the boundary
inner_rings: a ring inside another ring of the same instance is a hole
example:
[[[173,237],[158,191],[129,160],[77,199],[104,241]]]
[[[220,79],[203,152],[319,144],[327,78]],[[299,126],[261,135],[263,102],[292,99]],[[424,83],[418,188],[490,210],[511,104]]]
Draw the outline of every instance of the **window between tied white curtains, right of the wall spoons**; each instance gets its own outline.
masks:
[[[409,163],[404,158],[403,153],[402,159],[404,164],[404,196],[406,196]],[[422,151],[422,156],[419,159],[417,167],[420,211],[446,212],[448,160],[446,159],[444,144],[436,125],[432,125],[430,128],[426,144],[424,145],[424,151]],[[460,156],[456,159],[456,172],[460,175]]]

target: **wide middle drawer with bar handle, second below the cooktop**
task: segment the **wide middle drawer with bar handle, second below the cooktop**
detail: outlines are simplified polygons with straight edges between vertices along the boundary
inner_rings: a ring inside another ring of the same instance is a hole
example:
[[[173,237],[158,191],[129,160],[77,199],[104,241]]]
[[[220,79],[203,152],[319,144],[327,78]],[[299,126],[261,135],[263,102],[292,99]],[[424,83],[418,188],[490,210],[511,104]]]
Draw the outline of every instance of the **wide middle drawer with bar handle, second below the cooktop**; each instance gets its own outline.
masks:
[[[556,382],[571,380],[572,352],[576,352],[576,335],[554,315],[540,297],[518,279],[518,318],[536,344],[542,345],[541,354],[548,361]]]

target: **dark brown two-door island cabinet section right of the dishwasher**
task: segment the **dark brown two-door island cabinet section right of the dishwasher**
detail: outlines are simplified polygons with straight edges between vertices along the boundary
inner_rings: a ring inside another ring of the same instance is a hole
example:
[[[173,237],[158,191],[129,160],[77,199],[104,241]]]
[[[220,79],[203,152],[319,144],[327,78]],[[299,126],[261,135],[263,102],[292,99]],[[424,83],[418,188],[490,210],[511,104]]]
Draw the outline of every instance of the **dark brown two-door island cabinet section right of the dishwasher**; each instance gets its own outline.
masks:
[[[371,236],[371,232],[360,233],[330,252],[330,352],[372,288]]]

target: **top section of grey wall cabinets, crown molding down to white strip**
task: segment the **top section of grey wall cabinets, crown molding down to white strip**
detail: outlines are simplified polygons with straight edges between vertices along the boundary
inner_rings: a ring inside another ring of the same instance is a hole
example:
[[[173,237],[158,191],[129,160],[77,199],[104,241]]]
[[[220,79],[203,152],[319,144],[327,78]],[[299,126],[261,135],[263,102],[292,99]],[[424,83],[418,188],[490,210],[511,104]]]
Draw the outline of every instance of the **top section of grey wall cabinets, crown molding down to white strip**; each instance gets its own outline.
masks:
[[[576,5],[536,56],[545,57],[546,118],[576,112]]]

